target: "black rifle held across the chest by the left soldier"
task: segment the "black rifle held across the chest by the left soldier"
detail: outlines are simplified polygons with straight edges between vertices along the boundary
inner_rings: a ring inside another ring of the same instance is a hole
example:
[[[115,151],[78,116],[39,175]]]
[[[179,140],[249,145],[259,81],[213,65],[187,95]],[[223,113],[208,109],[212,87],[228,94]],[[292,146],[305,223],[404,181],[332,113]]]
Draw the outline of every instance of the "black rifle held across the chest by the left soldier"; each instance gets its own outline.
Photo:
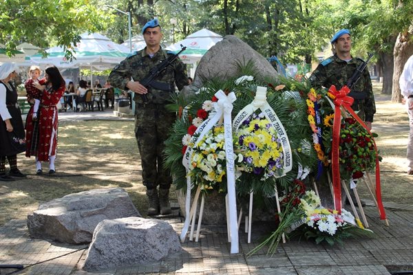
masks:
[[[145,88],[152,87],[152,88],[160,89],[164,91],[171,89],[171,87],[169,87],[169,84],[160,83],[158,81],[155,81],[154,79],[157,76],[159,76],[159,74],[162,73],[165,69],[167,69],[167,67],[171,65],[173,61],[176,60],[176,58],[178,58],[181,52],[183,52],[184,50],[187,50],[187,47],[182,46],[182,44],[180,46],[181,46],[181,50],[178,52],[178,54],[173,54],[172,56],[169,56],[167,59],[165,59],[165,61],[162,61],[162,63],[160,63],[158,66],[151,69],[149,74],[147,74],[145,78],[140,80],[139,83],[143,85]],[[148,97],[146,94],[142,94],[142,100],[143,102],[148,102]]]

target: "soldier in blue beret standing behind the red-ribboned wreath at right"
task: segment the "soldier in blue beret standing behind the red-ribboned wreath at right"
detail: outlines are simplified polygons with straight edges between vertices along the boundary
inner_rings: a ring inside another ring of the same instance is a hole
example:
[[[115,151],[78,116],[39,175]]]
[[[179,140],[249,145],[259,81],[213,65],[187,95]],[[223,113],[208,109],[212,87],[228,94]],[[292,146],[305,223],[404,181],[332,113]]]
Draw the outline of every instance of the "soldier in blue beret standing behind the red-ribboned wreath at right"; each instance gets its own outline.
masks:
[[[309,80],[313,87],[330,88],[335,85],[337,90],[347,84],[357,67],[364,61],[360,58],[353,58],[350,55],[351,39],[349,30],[339,30],[331,39],[335,55],[330,56],[321,62],[317,69],[311,74]],[[361,120],[366,122],[366,126],[371,130],[373,115],[376,113],[376,104],[372,89],[370,73],[364,69],[359,81],[352,87],[349,96],[354,98],[351,108],[359,115]]]

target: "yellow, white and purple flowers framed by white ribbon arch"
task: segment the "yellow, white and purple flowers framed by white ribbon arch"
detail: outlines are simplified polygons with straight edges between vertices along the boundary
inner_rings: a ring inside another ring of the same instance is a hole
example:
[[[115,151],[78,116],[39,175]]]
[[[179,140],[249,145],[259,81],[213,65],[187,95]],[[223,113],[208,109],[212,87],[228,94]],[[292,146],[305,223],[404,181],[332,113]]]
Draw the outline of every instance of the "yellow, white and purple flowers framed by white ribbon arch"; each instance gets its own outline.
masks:
[[[237,131],[238,148],[242,162],[237,163],[246,173],[261,180],[282,174],[283,153],[277,132],[263,113],[253,114]]]

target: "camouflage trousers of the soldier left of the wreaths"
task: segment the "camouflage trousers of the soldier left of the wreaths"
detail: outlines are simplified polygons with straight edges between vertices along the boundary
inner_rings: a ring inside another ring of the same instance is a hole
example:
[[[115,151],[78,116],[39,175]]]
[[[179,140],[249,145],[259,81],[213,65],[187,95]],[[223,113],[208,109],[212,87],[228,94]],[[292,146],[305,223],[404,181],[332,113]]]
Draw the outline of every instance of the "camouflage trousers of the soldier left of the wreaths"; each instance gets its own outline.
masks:
[[[169,189],[172,178],[163,167],[163,150],[169,129],[176,115],[165,109],[164,104],[136,104],[135,136],[142,163],[143,185],[147,189],[157,186]]]

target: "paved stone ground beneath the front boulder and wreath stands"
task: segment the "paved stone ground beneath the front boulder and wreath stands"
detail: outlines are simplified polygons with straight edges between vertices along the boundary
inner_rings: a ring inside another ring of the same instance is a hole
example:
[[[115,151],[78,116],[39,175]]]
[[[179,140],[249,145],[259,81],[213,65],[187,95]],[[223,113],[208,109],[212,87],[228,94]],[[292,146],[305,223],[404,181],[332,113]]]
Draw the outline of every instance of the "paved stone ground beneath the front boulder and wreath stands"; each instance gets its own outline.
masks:
[[[371,205],[371,202],[368,203]],[[87,245],[67,245],[30,239],[25,220],[12,220],[0,228],[0,264],[23,265],[21,271],[0,270],[1,274],[391,274],[413,270],[413,206],[385,203],[390,226],[379,220],[377,209],[366,206],[374,239],[348,239],[343,246],[316,245],[311,241],[290,240],[277,252],[262,250],[246,256],[270,226],[254,223],[252,242],[240,231],[240,253],[229,254],[226,226],[204,226],[198,243],[182,243],[182,253],[147,265],[125,266],[87,273],[81,270]],[[183,219],[167,219],[180,232]]]

